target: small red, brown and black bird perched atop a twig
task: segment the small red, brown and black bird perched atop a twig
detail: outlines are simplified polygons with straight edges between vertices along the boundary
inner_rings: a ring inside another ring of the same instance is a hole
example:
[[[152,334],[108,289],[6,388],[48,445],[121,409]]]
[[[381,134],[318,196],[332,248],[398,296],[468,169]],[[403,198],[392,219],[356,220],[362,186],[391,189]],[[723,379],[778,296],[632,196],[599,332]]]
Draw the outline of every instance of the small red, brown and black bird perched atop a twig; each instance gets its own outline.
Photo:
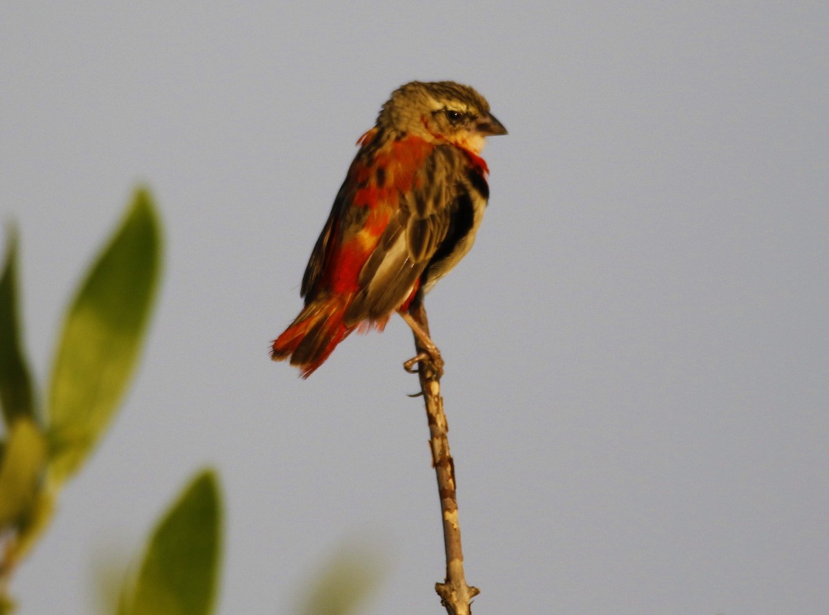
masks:
[[[413,81],[391,94],[357,141],[274,361],[289,357],[307,378],[352,331],[382,331],[395,311],[439,357],[406,310],[472,248],[489,196],[480,153],[497,134],[507,128],[468,85]]]

